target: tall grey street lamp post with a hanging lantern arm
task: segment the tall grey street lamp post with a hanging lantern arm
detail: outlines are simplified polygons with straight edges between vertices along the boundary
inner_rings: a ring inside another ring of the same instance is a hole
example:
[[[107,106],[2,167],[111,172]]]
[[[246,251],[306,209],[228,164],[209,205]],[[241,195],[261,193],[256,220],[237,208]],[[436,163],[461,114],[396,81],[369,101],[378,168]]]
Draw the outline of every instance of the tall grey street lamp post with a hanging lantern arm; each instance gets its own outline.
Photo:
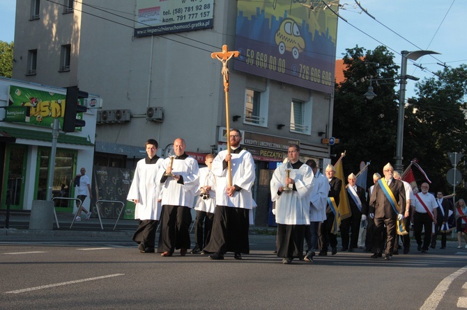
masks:
[[[401,51],[402,61],[401,61],[401,75],[394,78],[399,79],[399,115],[397,117],[397,142],[396,142],[396,156],[395,156],[395,165],[394,170],[402,173],[404,171],[404,165],[402,165],[402,144],[404,139],[404,107],[406,101],[406,83],[407,79],[412,79],[418,81],[418,78],[415,76],[407,75],[407,59],[417,60],[418,58],[429,55],[429,54],[439,54],[436,51]],[[387,79],[373,79],[370,80],[370,85],[365,93],[365,97],[371,100],[376,97],[376,94],[373,92],[372,81],[377,80],[387,80]]]

